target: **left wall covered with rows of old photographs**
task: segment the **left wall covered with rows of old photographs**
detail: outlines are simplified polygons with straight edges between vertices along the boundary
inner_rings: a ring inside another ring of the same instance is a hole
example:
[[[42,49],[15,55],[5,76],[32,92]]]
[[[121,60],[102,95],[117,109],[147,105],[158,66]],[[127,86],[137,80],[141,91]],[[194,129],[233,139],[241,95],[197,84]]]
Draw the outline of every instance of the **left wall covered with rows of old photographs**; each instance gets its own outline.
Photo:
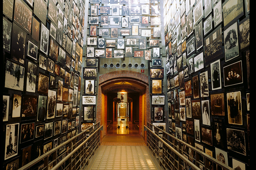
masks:
[[[82,0],[3,2],[3,169],[78,133],[84,11]]]

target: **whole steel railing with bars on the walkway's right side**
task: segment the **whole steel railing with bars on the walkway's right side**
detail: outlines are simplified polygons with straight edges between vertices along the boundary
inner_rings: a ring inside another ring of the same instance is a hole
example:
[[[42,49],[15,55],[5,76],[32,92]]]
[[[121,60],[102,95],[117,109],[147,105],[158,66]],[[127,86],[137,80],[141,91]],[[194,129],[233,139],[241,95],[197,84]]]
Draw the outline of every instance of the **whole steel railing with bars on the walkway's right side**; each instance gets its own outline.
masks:
[[[148,147],[165,169],[213,170],[213,166],[233,169],[149,122],[144,130],[147,131]]]

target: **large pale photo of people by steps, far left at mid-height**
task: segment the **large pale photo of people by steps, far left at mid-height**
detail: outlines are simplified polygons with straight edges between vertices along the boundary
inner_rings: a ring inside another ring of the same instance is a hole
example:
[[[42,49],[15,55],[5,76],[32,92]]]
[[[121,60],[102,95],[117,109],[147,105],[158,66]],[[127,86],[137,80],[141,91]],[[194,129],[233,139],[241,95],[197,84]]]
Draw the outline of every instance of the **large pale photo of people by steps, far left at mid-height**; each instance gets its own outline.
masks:
[[[25,68],[20,64],[6,60],[4,87],[23,91],[25,72]]]

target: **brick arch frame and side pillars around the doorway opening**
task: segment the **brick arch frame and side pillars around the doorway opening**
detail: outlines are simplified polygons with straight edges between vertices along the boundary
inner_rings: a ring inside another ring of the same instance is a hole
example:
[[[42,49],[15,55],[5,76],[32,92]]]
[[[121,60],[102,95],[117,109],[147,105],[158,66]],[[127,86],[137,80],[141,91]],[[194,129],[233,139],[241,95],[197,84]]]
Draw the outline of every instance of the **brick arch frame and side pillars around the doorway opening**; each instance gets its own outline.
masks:
[[[101,133],[101,138],[107,134],[107,96],[102,92],[102,87],[120,81],[128,81],[145,87],[144,92],[140,93],[140,103],[142,103],[142,95],[144,94],[144,124],[150,122],[150,103],[149,103],[149,86],[148,86],[148,76],[136,71],[130,70],[119,70],[112,71],[103,74],[99,77],[99,87],[98,87],[98,99],[97,99],[97,112],[96,112],[96,122],[103,124],[103,131]],[[142,106],[139,107],[139,133],[142,135],[142,129],[144,129],[144,124],[142,124]],[[103,118],[104,117],[104,118]],[[146,137],[146,133],[144,133]],[[146,142],[146,141],[145,141]]]

